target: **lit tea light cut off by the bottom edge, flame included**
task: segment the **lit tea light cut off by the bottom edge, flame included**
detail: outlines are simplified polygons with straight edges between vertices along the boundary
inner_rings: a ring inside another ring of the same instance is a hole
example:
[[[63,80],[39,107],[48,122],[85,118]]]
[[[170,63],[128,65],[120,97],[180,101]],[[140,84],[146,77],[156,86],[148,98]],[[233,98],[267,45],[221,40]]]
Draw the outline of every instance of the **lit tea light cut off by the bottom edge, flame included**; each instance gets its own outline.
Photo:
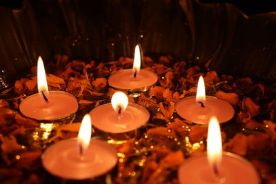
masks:
[[[259,174],[246,159],[221,152],[221,134],[215,117],[208,127],[207,155],[193,156],[178,169],[179,183],[258,184]]]

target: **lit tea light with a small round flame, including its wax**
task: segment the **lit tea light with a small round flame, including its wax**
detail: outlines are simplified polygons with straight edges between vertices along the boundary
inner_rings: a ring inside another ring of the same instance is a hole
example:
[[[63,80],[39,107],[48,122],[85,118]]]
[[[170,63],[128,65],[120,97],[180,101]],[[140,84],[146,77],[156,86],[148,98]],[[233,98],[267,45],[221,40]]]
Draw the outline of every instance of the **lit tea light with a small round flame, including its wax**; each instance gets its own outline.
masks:
[[[128,103],[124,92],[115,92],[111,103],[100,105],[90,112],[92,125],[103,132],[125,133],[148,122],[150,113],[136,103]]]

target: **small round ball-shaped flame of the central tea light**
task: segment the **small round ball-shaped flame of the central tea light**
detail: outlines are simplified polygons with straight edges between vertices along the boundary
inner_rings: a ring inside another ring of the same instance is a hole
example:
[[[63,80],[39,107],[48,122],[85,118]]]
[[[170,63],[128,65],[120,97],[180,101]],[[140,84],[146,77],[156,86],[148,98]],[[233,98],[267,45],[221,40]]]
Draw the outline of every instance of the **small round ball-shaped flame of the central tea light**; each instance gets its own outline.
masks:
[[[128,96],[124,92],[115,92],[111,98],[111,105],[115,112],[120,114],[128,106]]]

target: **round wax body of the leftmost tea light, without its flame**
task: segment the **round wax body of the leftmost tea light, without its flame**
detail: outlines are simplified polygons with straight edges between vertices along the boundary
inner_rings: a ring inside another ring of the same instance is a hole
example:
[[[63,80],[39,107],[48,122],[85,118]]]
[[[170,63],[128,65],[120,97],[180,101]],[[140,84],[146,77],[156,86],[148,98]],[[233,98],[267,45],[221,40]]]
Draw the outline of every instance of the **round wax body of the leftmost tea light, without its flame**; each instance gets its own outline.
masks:
[[[48,103],[39,93],[24,99],[19,105],[21,113],[31,119],[52,121],[77,112],[79,105],[72,94],[63,91],[49,91],[45,94]]]

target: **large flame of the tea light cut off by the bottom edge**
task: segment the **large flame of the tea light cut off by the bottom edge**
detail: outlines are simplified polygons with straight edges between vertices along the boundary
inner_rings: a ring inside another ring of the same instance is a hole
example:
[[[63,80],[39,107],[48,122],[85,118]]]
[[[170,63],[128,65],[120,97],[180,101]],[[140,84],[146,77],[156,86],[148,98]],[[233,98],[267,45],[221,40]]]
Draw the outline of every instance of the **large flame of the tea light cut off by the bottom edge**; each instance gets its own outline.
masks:
[[[217,169],[219,168],[222,156],[221,152],[222,145],[219,122],[215,116],[212,116],[208,127],[207,156],[208,162],[215,172],[218,172]]]

